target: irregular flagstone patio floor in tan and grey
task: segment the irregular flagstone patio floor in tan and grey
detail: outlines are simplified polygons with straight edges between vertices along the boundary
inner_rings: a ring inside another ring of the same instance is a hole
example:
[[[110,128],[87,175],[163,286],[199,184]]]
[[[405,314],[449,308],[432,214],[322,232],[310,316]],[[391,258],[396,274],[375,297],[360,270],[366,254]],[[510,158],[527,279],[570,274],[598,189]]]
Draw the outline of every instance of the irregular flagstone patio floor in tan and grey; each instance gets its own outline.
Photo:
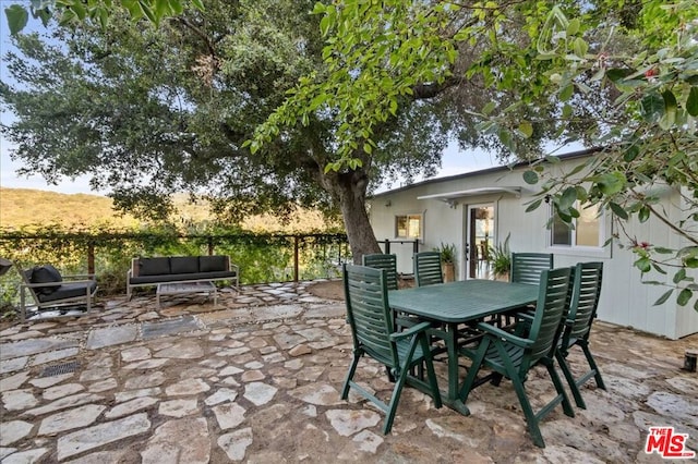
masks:
[[[470,416],[406,388],[384,436],[382,412],[339,398],[351,357],[344,302],[313,296],[310,284],[227,291],[216,307],[194,296],[159,309],[141,293],[80,318],[5,328],[0,461],[662,462],[643,451],[650,426],[673,426],[698,449],[698,375],[681,369],[698,335],[667,341],[607,323],[592,334],[607,391],[592,381],[587,410],[547,416],[546,448],[532,444],[506,380],[477,389]],[[437,369],[445,388],[445,365]],[[392,391],[375,363],[362,362],[356,378],[384,398]],[[527,389],[534,403],[554,393],[544,370]]]

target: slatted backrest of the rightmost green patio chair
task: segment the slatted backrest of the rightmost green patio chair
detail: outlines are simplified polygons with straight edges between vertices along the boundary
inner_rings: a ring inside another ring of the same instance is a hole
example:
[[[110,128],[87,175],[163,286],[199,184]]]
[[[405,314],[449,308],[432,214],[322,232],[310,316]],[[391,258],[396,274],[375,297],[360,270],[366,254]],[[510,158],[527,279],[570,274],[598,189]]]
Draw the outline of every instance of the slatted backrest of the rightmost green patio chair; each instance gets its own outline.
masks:
[[[581,339],[589,335],[591,322],[597,314],[603,262],[579,262],[573,269],[574,283],[567,315],[573,322],[566,335],[570,339]]]

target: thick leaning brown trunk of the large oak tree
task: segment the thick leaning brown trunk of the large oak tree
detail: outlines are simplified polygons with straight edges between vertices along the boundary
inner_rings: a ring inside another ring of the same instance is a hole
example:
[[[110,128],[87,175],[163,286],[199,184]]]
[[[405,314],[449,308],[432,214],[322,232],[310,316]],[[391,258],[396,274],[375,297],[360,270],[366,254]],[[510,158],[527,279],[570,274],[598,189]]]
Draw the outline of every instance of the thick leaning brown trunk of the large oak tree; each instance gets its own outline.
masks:
[[[368,179],[362,170],[357,170],[339,174],[337,181],[334,187],[339,197],[353,262],[361,264],[363,255],[381,253],[366,212]]]

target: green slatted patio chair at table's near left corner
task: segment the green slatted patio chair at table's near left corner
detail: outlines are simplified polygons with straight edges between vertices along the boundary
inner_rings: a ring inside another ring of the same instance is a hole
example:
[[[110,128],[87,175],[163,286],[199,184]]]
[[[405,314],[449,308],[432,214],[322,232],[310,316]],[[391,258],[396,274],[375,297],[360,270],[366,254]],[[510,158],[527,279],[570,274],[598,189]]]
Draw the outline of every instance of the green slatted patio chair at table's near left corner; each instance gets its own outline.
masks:
[[[365,266],[344,266],[345,298],[347,315],[353,340],[353,359],[341,390],[341,399],[347,400],[349,388],[353,388],[366,400],[386,413],[383,432],[393,428],[395,412],[407,380],[408,371],[422,363],[426,366],[429,383],[420,383],[431,391],[434,405],[442,406],[438,384],[432,362],[431,349],[426,338],[429,322],[421,322],[402,332],[394,330],[393,315],[388,305],[387,278],[384,269]],[[369,355],[390,369],[395,377],[395,388],[389,404],[353,381],[359,359]]]

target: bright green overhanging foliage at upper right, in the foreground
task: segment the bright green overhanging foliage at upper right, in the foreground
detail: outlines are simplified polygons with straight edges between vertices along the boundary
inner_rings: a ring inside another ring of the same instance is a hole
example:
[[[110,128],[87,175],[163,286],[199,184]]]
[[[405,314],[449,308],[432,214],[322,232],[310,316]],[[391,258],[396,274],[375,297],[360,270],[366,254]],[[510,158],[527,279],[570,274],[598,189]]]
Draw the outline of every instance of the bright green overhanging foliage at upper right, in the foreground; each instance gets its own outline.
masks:
[[[531,159],[527,141],[543,131],[601,148],[563,175],[546,169],[558,162],[553,156],[533,162],[525,180],[542,188],[529,209],[550,196],[556,215],[571,223],[576,205],[601,205],[622,231],[634,218],[658,218],[682,245],[627,236],[635,266],[643,273],[673,269],[677,302],[688,303],[698,290],[690,271],[698,268],[697,3],[388,0],[318,3],[315,12],[328,75],[303,78],[257,127],[253,150],[280,127],[328,107],[339,122],[341,158],[327,169],[362,166],[357,147],[371,150],[373,127],[389,120],[405,96],[425,83],[479,81],[514,97],[469,109],[482,138],[496,135],[508,155]],[[678,192],[679,218],[659,206],[657,187]]]

